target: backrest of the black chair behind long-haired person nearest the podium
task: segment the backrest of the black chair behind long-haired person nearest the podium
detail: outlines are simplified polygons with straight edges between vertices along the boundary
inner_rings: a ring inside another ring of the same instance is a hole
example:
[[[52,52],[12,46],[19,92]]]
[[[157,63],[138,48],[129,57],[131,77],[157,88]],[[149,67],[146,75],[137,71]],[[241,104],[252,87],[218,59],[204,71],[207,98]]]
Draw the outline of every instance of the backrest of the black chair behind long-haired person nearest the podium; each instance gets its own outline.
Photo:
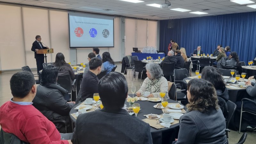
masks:
[[[68,91],[68,93],[71,92],[71,78],[69,74],[65,75],[58,75],[57,83],[60,84],[60,86]]]

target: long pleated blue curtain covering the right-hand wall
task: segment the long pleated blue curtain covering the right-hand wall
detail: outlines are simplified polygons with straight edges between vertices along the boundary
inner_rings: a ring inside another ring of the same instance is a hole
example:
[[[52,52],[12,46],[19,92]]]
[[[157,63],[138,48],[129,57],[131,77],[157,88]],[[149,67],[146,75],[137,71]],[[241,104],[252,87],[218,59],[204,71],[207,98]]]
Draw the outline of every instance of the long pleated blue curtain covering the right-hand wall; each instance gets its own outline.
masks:
[[[199,45],[205,54],[211,54],[222,44],[230,46],[245,63],[256,57],[256,12],[174,19],[174,28],[168,28],[168,21],[160,20],[161,51],[167,52],[173,39],[187,55]]]

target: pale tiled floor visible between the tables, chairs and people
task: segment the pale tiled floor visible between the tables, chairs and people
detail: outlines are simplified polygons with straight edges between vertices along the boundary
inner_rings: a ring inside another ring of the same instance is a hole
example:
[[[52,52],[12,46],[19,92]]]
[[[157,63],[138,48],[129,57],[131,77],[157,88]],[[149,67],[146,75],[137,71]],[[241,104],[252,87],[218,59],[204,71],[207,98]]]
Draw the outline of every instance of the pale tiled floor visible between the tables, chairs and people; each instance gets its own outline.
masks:
[[[118,63],[117,64],[117,68],[116,68],[117,72],[121,72],[121,64]],[[8,73],[0,73],[0,106],[4,104],[4,102],[10,100],[12,98],[12,94],[11,94],[11,90],[10,90],[10,78],[11,76],[14,74],[15,72],[8,72]],[[33,71],[33,73],[36,73],[36,70]],[[192,76],[195,76],[195,72],[192,72]],[[128,72],[129,74],[129,72]],[[132,71],[130,72],[130,75],[126,76],[126,80],[128,83],[128,87],[129,87],[129,94],[132,94],[130,91],[130,87],[132,85],[136,86],[136,89],[138,90],[141,86],[141,84],[143,83],[143,80],[141,80],[140,83],[140,79],[134,79],[132,80]],[[248,136],[247,139],[245,141],[245,144],[255,144],[255,139],[256,139],[256,132],[247,132]],[[232,131],[229,132],[228,134],[229,136],[229,143],[230,144],[235,144],[238,142],[238,140],[240,139],[240,137],[242,136],[242,132],[241,134],[238,133],[238,131]]]

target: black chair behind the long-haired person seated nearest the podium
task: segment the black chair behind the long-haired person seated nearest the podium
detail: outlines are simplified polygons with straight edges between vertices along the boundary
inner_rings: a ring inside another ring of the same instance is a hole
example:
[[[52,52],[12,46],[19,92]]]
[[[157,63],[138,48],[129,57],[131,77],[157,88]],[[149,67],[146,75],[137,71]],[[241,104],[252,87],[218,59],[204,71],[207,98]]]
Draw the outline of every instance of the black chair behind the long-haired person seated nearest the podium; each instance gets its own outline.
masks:
[[[58,75],[57,83],[60,84],[62,88],[68,91],[68,94],[70,94],[71,101],[73,101],[72,86],[76,85],[76,79],[74,79],[72,83],[72,80],[69,74]]]

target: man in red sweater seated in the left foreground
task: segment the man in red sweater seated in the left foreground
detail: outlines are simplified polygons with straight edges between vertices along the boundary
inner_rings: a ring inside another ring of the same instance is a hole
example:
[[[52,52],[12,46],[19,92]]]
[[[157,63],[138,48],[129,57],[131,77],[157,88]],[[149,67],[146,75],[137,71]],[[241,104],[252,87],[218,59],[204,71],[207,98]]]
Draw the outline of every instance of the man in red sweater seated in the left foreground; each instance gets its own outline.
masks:
[[[72,144],[72,134],[60,134],[55,125],[32,106],[37,89],[31,72],[14,74],[10,88],[13,98],[0,108],[0,125],[4,132],[30,144]]]

